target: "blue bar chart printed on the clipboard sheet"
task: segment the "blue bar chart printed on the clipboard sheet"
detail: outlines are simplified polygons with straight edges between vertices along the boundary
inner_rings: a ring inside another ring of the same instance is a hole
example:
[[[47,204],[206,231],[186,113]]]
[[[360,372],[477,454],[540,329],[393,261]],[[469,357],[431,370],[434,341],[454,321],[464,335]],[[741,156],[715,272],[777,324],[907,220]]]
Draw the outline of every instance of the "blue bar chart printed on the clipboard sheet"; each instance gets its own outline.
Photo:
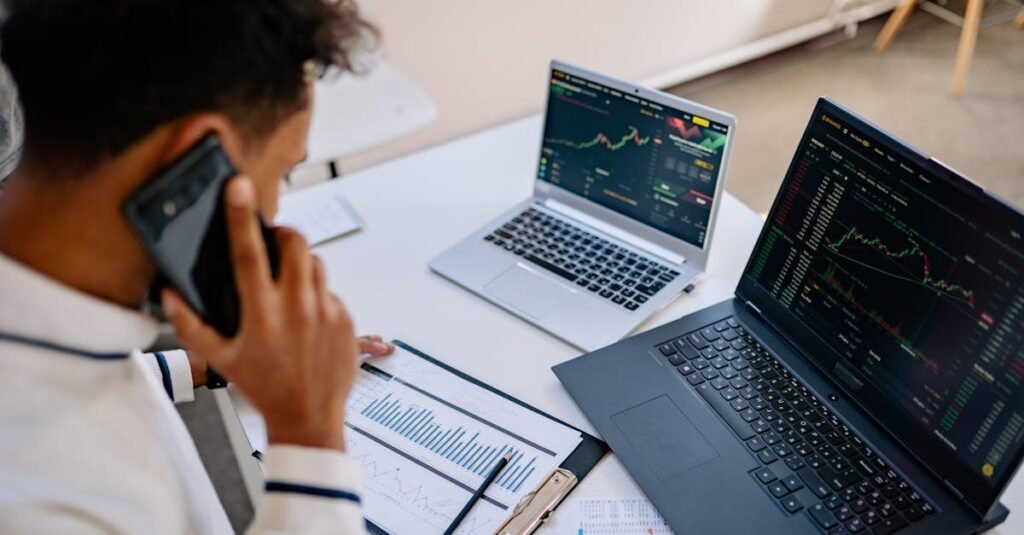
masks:
[[[487,435],[481,428],[445,424],[437,419],[432,409],[403,403],[393,394],[389,392],[374,399],[359,414],[430,455],[476,477],[486,476],[498,459],[511,453],[508,465],[495,481],[495,485],[511,493],[518,492],[537,469],[537,455],[527,454],[508,442],[502,444],[488,441],[485,437],[493,437],[494,434]]]

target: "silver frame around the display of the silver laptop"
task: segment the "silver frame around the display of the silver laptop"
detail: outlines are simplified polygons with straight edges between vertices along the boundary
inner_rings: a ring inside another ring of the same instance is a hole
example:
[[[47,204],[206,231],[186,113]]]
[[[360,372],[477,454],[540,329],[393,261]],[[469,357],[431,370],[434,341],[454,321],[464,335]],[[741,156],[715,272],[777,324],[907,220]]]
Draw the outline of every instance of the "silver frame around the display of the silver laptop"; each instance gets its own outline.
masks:
[[[725,179],[728,172],[729,157],[732,153],[732,146],[735,140],[736,131],[736,118],[719,110],[708,108],[706,106],[692,102],[685,98],[680,98],[675,95],[671,95],[656,89],[651,89],[636,84],[631,84],[625,80],[618,80],[609,76],[601,75],[577,67],[570,64],[566,64],[560,60],[552,60],[550,69],[548,71],[548,89],[547,89],[547,99],[545,106],[545,124],[544,128],[547,129],[547,113],[548,107],[551,106],[551,90],[550,83],[552,74],[555,71],[562,71],[571,76],[580,77],[585,80],[590,80],[594,83],[601,84],[617,91],[622,91],[624,94],[630,94],[652,101],[658,106],[667,109],[677,110],[681,112],[686,112],[689,114],[698,115],[705,117],[709,120],[715,121],[726,125],[729,128],[728,137],[726,138],[725,147],[722,152],[722,165],[719,170],[718,181],[715,184],[715,198],[712,201],[711,213],[708,218],[708,229],[705,233],[703,246],[698,247],[686,240],[672,236],[669,233],[655,229],[654,227],[647,224],[638,219],[634,219],[628,215],[620,213],[611,208],[602,206],[594,201],[587,199],[581,195],[578,195],[569,190],[566,190],[560,186],[542,180],[539,176],[535,176],[535,188],[534,188],[534,198],[540,202],[545,202],[547,200],[554,200],[563,203],[571,208],[583,211],[590,216],[593,216],[604,223],[612,225],[616,229],[626,231],[629,234],[637,236],[643,240],[646,240],[654,245],[668,249],[676,254],[681,255],[687,261],[687,263],[692,263],[698,266],[701,271],[708,264],[708,255],[711,251],[712,238],[715,233],[715,222],[718,215],[719,206],[722,204],[722,195],[725,193]],[[544,134],[542,133],[540,139],[540,147],[538,154],[543,154],[544,150]],[[540,161],[540,156],[538,157]],[[539,173],[538,173],[539,174]]]

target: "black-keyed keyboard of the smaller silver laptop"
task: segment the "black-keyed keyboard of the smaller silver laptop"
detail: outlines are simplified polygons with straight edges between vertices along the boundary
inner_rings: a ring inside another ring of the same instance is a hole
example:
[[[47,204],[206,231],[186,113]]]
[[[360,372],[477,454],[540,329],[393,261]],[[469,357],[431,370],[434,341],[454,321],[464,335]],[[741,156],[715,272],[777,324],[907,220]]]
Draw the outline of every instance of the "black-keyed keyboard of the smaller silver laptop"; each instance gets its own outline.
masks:
[[[628,311],[679,277],[671,268],[534,208],[483,239]]]

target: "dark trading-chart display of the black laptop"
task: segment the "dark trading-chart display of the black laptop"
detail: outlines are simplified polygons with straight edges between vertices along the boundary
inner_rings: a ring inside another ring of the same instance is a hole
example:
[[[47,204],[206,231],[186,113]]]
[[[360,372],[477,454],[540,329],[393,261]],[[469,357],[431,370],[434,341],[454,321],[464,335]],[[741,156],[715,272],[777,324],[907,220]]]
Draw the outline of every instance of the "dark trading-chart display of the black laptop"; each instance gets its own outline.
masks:
[[[1022,235],[1019,212],[822,100],[743,284],[834,349],[812,357],[894,434],[994,488],[1024,444]]]

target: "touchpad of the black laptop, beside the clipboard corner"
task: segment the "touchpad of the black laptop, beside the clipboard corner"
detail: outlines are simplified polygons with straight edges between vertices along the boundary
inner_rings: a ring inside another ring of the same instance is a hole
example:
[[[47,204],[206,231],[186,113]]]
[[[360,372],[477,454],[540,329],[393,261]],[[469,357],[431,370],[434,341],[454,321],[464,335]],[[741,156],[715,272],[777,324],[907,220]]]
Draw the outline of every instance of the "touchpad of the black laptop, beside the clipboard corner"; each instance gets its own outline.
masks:
[[[663,481],[718,457],[718,452],[668,396],[654,398],[611,417],[636,458],[647,460]]]

